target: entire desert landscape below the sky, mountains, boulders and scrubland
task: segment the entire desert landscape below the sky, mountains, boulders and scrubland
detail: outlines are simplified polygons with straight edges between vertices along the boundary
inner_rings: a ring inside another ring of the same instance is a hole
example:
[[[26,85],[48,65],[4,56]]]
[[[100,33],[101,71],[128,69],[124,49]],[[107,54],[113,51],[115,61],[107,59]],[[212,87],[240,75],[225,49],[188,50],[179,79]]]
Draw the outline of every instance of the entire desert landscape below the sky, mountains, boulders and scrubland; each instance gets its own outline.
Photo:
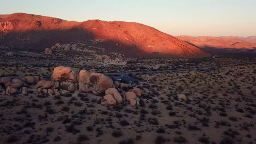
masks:
[[[0,15],[0,143],[256,143],[255,39]]]

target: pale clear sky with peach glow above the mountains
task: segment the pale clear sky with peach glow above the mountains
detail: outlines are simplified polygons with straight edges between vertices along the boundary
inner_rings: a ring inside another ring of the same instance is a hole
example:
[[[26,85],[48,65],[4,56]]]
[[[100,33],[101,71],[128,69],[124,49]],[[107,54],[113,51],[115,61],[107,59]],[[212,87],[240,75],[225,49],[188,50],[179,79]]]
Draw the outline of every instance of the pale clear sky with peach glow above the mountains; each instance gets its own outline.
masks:
[[[1,0],[0,14],[129,21],[177,36],[256,35],[256,0]]]

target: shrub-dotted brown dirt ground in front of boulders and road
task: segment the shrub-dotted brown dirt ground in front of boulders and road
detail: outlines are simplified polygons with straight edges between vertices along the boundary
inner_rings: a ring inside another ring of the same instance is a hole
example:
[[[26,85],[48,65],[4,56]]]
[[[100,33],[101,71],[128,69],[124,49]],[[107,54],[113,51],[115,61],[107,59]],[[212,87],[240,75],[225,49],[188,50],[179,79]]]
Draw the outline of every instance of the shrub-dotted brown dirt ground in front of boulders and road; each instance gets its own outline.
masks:
[[[136,75],[140,106],[103,106],[90,93],[1,95],[0,143],[255,143],[255,67]]]

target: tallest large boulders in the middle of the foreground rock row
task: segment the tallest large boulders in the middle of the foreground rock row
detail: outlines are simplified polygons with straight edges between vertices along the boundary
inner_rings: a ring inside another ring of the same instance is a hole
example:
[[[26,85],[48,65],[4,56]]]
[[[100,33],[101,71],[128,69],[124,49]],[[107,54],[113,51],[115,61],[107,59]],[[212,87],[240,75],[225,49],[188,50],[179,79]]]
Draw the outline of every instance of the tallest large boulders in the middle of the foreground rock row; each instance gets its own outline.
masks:
[[[80,70],[79,73],[69,67],[56,67],[50,80],[39,81],[36,88],[64,89],[71,93],[75,91],[92,92],[96,95],[104,92],[107,88],[113,87],[112,80],[103,74],[90,73],[87,70]]]

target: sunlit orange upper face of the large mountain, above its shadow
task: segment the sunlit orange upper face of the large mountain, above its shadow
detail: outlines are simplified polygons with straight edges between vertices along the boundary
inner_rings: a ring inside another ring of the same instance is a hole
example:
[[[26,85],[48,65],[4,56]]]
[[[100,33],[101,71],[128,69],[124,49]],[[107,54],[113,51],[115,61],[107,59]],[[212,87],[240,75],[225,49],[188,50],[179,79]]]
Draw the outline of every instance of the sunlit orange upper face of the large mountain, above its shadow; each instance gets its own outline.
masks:
[[[118,44],[120,44],[120,47],[123,45],[136,47],[135,49],[137,49],[137,51],[134,53],[141,52],[152,54],[158,52],[181,57],[210,56],[209,53],[203,52],[197,47],[185,43],[172,35],[162,33],[153,27],[135,22],[106,22],[100,20],[74,22],[56,19],[53,17],[23,13],[11,14],[2,20],[0,19],[0,22],[9,23],[8,25],[10,26],[7,27],[5,25],[1,25],[1,34],[8,34],[11,32],[49,32],[56,30],[63,31],[69,29],[79,29],[80,31],[88,32],[94,39],[116,41]],[[84,38],[88,37],[88,33],[84,36]],[[83,36],[83,34],[81,35]],[[77,37],[80,38],[81,35]],[[68,38],[69,37],[67,35],[65,39]],[[88,39],[90,38],[88,37]],[[127,47],[125,49],[127,49]]]

